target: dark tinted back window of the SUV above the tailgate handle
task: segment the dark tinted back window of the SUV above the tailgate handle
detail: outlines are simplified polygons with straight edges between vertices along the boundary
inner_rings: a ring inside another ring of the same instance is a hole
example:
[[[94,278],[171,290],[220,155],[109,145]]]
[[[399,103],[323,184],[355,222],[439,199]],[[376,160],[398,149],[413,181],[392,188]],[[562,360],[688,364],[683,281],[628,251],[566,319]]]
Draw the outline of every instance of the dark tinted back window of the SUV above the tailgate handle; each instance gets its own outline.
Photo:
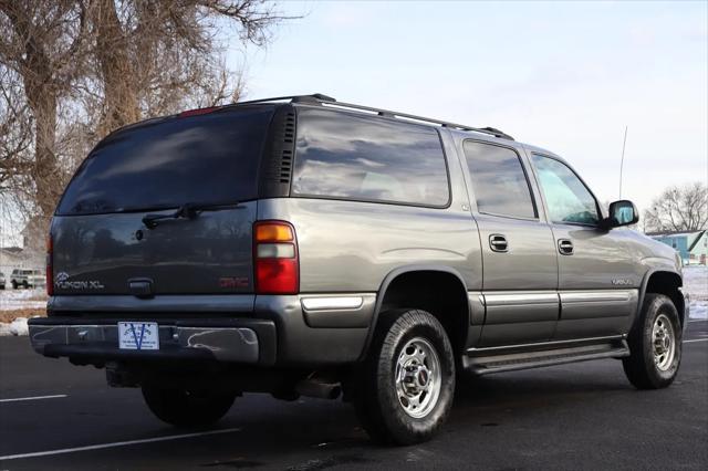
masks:
[[[173,118],[110,136],[91,151],[60,214],[253,199],[271,109]]]

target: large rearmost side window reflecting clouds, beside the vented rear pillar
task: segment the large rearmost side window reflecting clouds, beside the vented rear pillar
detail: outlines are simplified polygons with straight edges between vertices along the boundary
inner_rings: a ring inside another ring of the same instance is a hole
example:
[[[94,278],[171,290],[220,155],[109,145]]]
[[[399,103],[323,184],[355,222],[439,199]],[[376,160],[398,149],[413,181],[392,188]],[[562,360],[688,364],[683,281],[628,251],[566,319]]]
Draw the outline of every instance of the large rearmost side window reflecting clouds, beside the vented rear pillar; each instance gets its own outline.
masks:
[[[440,138],[427,126],[302,111],[292,191],[445,206],[449,189]]]

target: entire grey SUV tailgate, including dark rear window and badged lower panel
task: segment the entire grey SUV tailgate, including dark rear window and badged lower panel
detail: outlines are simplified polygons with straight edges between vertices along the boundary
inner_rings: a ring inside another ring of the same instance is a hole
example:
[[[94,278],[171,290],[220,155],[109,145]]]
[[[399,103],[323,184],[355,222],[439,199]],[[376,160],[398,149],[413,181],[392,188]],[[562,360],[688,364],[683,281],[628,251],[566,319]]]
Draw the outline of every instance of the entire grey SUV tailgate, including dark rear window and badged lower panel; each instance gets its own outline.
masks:
[[[52,223],[54,295],[252,293],[251,228],[271,116],[239,107],[174,117],[98,144]]]

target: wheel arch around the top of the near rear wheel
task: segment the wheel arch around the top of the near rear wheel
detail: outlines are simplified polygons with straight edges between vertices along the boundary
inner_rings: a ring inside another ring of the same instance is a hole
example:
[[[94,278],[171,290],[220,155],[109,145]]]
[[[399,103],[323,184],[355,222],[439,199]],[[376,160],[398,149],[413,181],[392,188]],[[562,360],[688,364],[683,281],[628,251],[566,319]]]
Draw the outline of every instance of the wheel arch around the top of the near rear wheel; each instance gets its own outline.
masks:
[[[371,327],[368,329],[368,335],[366,337],[366,343],[364,344],[364,348],[362,350],[360,360],[366,358],[368,354],[368,349],[371,347],[371,343],[373,341],[374,334],[378,326],[379,315],[382,312],[387,311],[391,307],[418,307],[425,308],[427,306],[420,305],[396,305],[391,306],[388,303],[392,301],[392,294],[397,294],[397,290],[402,286],[405,286],[405,282],[415,280],[413,285],[419,283],[419,280],[429,280],[440,282],[441,280],[455,281],[455,284],[446,285],[447,293],[456,293],[456,299],[454,304],[459,305],[458,316],[457,318],[444,318],[439,310],[434,310],[438,312],[431,311],[430,313],[436,316],[442,326],[448,332],[448,336],[450,337],[450,342],[452,343],[452,347],[455,348],[455,353],[459,353],[464,350],[464,346],[467,342],[468,327],[470,325],[470,306],[468,300],[468,291],[467,283],[460,275],[460,273],[445,265],[425,265],[425,264],[416,264],[416,265],[406,265],[399,266],[393,271],[391,271],[382,281],[381,286],[378,289],[378,293],[376,295],[376,304],[374,307],[374,314],[372,317]],[[431,284],[435,286],[435,283]],[[426,293],[417,293],[419,296],[425,295]],[[429,291],[428,293],[429,294]],[[446,294],[446,293],[442,293]],[[394,297],[394,302],[395,302]],[[444,322],[445,321],[445,322]],[[458,325],[462,328],[459,329],[458,333],[451,332],[450,327],[452,325]],[[450,335],[454,334],[454,335]],[[455,338],[454,338],[455,337]]]

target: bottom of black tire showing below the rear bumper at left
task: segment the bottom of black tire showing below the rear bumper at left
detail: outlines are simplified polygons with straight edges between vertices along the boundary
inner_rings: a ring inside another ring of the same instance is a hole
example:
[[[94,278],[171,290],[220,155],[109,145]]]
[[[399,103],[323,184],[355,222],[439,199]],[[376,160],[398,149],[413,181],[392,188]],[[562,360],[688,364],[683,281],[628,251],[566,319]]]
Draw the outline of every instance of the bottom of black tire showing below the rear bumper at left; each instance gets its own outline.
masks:
[[[197,427],[217,422],[229,411],[236,395],[143,385],[143,397],[162,421],[177,427]]]

